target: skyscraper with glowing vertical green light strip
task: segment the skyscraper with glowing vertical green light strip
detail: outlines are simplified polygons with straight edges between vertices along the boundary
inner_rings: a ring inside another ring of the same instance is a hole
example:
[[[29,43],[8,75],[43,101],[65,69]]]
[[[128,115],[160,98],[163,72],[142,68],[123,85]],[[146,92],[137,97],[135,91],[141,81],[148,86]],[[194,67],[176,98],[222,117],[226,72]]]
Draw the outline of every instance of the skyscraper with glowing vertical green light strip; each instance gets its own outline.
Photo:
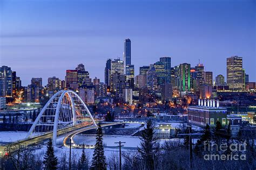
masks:
[[[190,91],[190,64],[180,64],[180,91]]]

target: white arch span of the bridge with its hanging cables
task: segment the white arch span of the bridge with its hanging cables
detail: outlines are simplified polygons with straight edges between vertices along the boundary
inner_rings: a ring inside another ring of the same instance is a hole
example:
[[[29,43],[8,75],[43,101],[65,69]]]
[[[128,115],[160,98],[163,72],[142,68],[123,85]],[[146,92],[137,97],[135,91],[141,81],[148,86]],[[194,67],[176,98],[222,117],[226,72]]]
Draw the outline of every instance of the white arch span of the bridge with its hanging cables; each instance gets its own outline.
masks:
[[[36,134],[52,133],[56,145],[57,135],[86,125],[97,126],[83,100],[72,90],[60,90],[44,105],[26,138]]]

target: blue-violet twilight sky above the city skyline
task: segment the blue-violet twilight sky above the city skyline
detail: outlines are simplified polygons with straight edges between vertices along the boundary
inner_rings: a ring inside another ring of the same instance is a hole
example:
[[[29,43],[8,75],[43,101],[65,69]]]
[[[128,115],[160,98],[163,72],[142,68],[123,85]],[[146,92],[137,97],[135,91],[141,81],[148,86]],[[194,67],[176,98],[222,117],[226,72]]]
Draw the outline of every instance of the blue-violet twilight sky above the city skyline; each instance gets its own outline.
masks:
[[[132,64],[161,56],[172,67],[200,62],[226,79],[226,58],[243,57],[256,81],[256,1],[12,1],[0,0],[0,66],[17,72],[23,86],[31,77],[64,79],[66,69],[84,63],[104,82],[107,58],[123,59],[130,38]]]

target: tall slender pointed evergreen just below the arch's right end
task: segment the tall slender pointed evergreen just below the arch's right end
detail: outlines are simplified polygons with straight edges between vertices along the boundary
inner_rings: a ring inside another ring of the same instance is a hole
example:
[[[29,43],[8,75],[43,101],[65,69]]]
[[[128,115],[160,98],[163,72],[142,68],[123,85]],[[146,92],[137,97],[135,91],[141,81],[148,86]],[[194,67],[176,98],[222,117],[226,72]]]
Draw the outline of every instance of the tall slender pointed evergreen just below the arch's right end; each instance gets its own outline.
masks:
[[[96,130],[96,144],[95,150],[93,151],[91,169],[106,169],[106,158],[104,155],[103,147],[103,132],[102,126],[100,126],[100,124]]]

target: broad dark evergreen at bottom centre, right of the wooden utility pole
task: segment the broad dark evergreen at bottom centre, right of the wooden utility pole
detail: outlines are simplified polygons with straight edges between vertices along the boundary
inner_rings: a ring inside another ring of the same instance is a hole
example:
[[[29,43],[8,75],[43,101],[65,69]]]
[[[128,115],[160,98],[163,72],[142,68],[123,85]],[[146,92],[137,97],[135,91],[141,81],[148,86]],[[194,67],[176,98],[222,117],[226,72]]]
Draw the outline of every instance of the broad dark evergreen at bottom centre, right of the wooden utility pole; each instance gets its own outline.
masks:
[[[144,161],[145,169],[155,169],[155,159],[157,158],[157,138],[154,138],[154,126],[149,119],[146,122],[147,126],[142,131],[142,138],[140,139],[140,147],[138,147],[138,152],[142,155]]]

